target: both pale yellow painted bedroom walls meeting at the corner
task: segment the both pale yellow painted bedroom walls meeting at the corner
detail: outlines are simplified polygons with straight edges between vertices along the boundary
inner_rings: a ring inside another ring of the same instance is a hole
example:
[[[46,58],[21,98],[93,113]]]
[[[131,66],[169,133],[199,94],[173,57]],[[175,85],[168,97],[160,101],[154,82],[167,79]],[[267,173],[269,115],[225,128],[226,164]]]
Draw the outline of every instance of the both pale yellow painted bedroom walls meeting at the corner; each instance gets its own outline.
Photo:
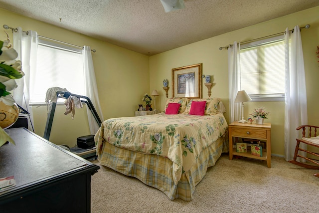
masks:
[[[157,89],[157,109],[163,110],[166,101],[162,81],[169,80],[168,98],[171,97],[171,69],[196,63],[203,64],[203,74],[211,75],[214,86],[212,96],[220,97],[228,109],[228,60],[227,50],[219,50],[236,41],[246,41],[282,32],[295,25],[311,24],[302,30],[309,124],[319,125],[317,106],[319,99],[319,63],[315,51],[319,45],[319,7],[314,7],[291,15],[225,33],[155,56],[145,56],[107,42],[90,38],[67,29],[26,18],[0,9],[0,25],[21,26],[23,30],[35,30],[39,35],[96,49],[92,53],[100,104],[104,119],[133,116],[137,105],[142,103],[143,94]],[[6,30],[8,31],[8,30]],[[9,31],[8,31],[9,32]],[[9,33],[11,36],[12,34]],[[67,86],[66,86],[67,88]],[[71,91],[72,92],[72,91]],[[203,85],[203,97],[208,97]],[[245,104],[245,117],[255,107],[264,106],[271,115],[267,122],[272,123],[272,153],[284,155],[284,102],[248,102]],[[50,141],[56,144],[73,146],[76,138],[88,135],[89,129],[84,109],[77,110],[74,120],[63,115],[64,107],[56,110]],[[43,136],[46,123],[46,106],[33,107],[35,133]],[[226,119],[229,114],[226,112]]]

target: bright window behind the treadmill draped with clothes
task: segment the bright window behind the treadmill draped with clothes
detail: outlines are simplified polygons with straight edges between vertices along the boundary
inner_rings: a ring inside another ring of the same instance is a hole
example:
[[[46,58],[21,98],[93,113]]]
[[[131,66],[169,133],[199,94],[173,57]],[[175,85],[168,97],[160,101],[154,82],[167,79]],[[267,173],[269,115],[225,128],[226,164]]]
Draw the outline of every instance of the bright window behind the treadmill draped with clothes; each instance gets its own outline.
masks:
[[[51,87],[85,94],[82,50],[39,39],[37,69],[30,78],[30,104],[43,104]]]

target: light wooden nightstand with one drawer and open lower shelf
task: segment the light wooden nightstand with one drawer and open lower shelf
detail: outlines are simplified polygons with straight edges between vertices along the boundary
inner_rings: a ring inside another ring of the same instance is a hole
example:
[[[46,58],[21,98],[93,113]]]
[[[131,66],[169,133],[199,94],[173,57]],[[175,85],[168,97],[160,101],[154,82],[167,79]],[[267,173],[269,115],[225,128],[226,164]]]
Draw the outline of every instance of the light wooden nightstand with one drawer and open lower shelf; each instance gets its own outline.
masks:
[[[271,124],[243,124],[233,122],[228,125],[229,133],[229,160],[233,159],[233,156],[242,156],[247,158],[259,159],[267,161],[268,168],[271,168]],[[235,138],[235,143],[233,142]],[[249,138],[266,141],[266,150],[263,149],[262,157],[251,154],[250,150],[247,152],[236,152],[236,148],[233,148],[233,144],[238,142],[238,138]]]

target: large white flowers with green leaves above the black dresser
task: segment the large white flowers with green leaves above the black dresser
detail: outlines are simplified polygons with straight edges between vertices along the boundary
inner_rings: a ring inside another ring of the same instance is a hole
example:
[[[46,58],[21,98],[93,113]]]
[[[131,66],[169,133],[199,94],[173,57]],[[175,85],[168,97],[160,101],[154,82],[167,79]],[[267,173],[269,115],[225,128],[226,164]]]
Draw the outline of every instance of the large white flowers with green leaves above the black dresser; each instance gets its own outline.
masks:
[[[12,125],[16,121],[17,116],[11,116],[11,118],[10,116],[6,116],[6,112],[12,109],[14,109],[12,112],[10,111],[12,115],[14,114],[13,112],[17,115],[19,112],[10,91],[17,87],[14,79],[22,78],[24,73],[21,70],[21,61],[15,60],[18,57],[18,53],[13,49],[7,33],[6,36],[7,40],[0,40],[0,102],[2,102],[0,112],[4,115],[1,122],[11,122],[10,125]],[[14,141],[0,126],[0,146],[7,141],[14,144]]]

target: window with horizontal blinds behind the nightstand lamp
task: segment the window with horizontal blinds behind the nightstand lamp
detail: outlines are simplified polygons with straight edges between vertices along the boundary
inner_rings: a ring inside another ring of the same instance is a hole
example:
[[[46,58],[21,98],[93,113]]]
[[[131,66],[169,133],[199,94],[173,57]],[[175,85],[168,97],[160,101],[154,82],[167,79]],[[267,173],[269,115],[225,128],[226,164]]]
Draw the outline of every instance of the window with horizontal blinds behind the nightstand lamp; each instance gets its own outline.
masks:
[[[285,97],[285,41],[283,36],[241,45],[241,89],[254,101],[282,101]]]

